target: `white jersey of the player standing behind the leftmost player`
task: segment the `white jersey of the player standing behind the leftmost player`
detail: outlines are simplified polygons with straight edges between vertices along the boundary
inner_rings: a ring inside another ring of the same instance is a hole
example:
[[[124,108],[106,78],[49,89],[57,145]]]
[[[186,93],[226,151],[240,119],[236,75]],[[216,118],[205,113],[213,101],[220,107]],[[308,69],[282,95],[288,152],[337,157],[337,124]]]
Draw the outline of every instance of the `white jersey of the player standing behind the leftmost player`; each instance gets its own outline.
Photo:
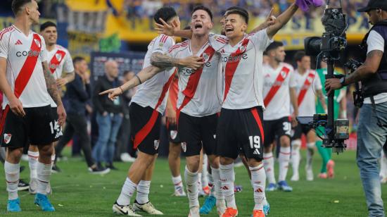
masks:
[[[72,65],[72,59],[68,49],[56,44],[52,51],[47,51],[49,60],[49,69],[53,75],[53,78],[61,78],[63,73],[74,73],[74,66]],[[51,107],[56,107],[56,103],[50,97]]]

